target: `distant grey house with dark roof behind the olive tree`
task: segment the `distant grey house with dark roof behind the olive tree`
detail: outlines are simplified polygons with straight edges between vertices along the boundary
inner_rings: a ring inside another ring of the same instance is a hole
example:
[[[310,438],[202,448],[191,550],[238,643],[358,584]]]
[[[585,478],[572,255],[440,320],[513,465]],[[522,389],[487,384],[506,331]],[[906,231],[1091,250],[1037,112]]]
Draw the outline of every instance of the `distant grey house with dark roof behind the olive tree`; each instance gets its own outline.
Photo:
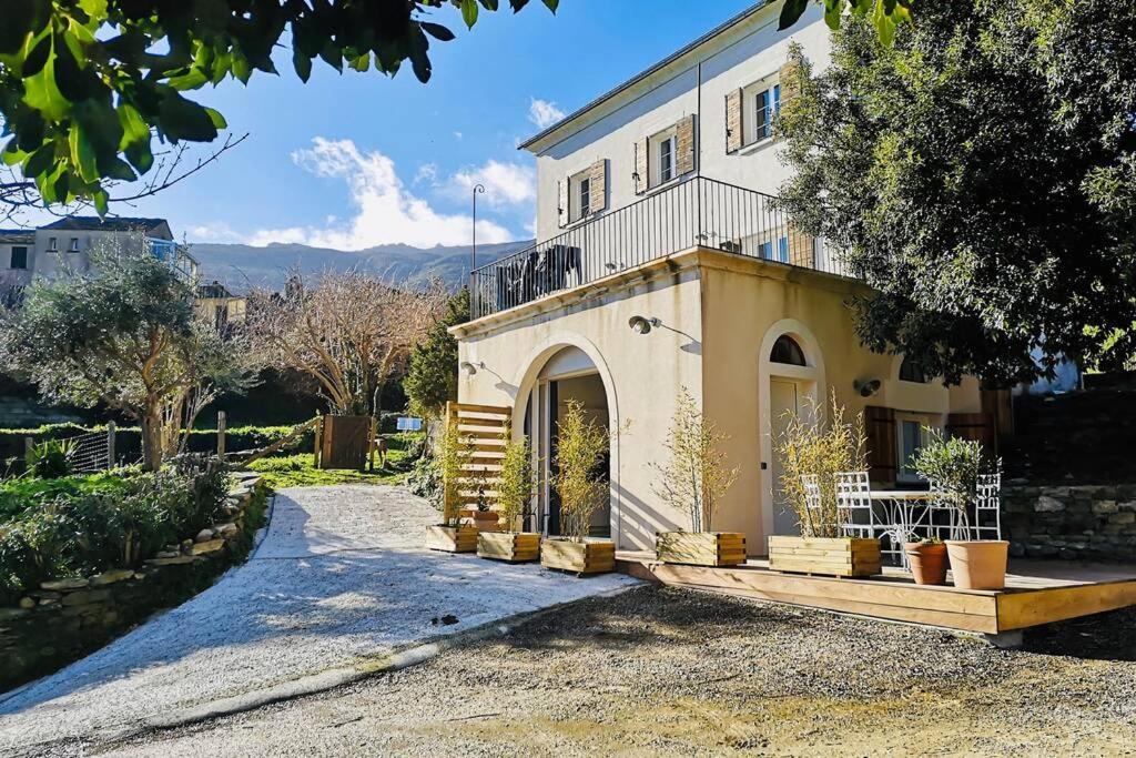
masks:
[[[107,238],[130,239],[142,235],[151,253],[187,280],[197,278],[198,261],[187,248],[174,241],[164,218],[99,218],[69,216],[35,230],[33,276],[51,276],[61,270],[91,269],[91,249]]]

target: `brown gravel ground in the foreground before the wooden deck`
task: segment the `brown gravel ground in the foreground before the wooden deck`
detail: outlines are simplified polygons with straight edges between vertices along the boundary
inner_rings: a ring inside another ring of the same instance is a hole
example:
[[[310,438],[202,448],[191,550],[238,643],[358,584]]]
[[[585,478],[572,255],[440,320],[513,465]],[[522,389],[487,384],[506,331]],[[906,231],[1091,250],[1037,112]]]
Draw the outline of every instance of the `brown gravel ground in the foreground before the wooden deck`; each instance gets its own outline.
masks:
[[[1024,651],[643,588],[122,756],[1114,755],[1136,751],[1136,611]],[[81,745],[72,745],[78,751]]]

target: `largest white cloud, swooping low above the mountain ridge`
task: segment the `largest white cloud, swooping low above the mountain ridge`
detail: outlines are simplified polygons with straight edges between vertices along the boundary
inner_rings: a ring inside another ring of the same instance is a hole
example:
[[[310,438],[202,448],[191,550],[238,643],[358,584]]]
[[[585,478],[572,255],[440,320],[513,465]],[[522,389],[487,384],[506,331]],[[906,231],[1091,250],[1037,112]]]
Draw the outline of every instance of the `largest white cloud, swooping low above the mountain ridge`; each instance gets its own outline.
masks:
[[[318,136],[308,150],[296,150],[292,160],[324,178],[348,184],[356,213],[342,223],[324,227],[293,226],[261,230],[251,244],[293,242],[340,250],[361,250],[376,244],[402,242],[416,247],[466,244],[471,219],[462,214],[442,214],[409,192],[399,178],[394,161],[377,150],[362,152],[351,140]],[[509,230],[490,220],[477,222],[479,242],[508,242]]]

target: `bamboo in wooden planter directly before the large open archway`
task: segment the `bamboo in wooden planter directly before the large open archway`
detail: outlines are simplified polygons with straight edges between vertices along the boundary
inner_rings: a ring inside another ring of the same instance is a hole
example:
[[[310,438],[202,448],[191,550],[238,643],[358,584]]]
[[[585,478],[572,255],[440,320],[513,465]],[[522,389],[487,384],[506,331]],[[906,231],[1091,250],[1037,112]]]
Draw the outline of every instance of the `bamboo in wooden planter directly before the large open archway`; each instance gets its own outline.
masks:
[[[598,574],[616,567],[611,540],[590,539],[592,516],[608,498],[607,477],[599,472],[608,451],[608,432],[588,419],[578,400],[569,400],[557,422],[556,474],[563,536],[541,543],[541,565],[575,574]]]

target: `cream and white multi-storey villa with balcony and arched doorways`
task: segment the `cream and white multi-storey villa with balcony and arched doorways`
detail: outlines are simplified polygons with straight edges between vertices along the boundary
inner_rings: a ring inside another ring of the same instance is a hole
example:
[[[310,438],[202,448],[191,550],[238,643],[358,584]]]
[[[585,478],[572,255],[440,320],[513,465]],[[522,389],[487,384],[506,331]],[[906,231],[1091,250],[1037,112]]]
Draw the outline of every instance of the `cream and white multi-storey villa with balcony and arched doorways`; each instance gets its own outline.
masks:
[[[691,528],[651,467],[684,389],[740,472],[713,527],[744,532],[755,555],[796,532],[774,444],[788,414],[825,414],[829,397],[862,410],[886,484],[913,477],[925,425],[984,418],[977,381],[945,386],[862,347],[846,301],[866,285],[770,205],[788,175],[772,117],[792,97],[790,44],[818,69],[829,57],[820,6],[786,32],[779,11],[754,6],[521,145],[536,156],[538,242],[473,272],[473,319],[452,332],[459,400],[510,407],[533,440],[542,531],[559,528],[549,461],[568,399],[610,430],[593,533],[621,549]]]

